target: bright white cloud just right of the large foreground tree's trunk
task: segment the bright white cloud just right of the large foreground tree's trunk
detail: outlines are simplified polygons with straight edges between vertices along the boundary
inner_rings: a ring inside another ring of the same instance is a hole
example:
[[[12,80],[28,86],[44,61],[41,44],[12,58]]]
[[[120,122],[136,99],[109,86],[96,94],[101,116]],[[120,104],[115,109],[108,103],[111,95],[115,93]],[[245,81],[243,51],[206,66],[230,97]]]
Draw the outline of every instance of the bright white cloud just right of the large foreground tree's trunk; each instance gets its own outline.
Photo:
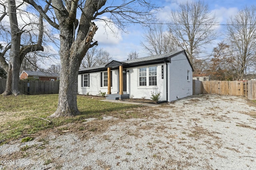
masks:
[[[105,21],[110,21],[107,17],[102,17]],[[118,28],[110,22],[107,22],[106,25],[105,21],[94,21],[98,27],[96,34],[94,35],[94,39],[99,43],[114,45],[120,43],[122,41],[122,35]],[[114,32],[114,33],[113,33]],[[114,35],[115,34],[115,35]]]

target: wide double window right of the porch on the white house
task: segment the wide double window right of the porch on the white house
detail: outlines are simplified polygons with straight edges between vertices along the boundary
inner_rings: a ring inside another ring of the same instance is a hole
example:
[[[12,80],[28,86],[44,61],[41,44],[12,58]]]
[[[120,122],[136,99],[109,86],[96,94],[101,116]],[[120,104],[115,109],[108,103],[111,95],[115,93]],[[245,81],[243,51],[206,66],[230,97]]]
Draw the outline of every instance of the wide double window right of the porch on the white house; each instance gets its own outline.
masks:
[[[157,85],[157,66],[139,68],[139,86]]]

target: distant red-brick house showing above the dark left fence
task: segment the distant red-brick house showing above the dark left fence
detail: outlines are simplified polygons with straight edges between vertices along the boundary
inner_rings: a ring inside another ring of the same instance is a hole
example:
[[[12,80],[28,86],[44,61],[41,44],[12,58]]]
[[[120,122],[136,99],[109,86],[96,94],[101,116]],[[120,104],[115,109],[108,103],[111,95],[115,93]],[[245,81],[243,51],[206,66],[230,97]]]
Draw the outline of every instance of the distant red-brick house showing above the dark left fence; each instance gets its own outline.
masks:
[[[60,75],[58,73],[52,73],[52,72],[42,72],[42,71],[27,71],[24,70],[20,74],[20,79],[26,79],[26,78],[34,78],[44,81],[56,81],[58,80],[58,77]]]

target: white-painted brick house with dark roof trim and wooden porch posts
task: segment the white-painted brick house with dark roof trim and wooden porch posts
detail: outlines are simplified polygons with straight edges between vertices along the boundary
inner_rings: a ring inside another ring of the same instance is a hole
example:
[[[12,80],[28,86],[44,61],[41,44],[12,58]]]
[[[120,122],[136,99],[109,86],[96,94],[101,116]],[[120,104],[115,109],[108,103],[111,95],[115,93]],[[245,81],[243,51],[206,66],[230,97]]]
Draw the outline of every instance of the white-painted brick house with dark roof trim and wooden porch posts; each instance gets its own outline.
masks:
[[[160,101],[174,101],[192,95],[193,68],[185,51],[111,61],[78,72],[78,94],[109,99],[145,98],[160,92]]]

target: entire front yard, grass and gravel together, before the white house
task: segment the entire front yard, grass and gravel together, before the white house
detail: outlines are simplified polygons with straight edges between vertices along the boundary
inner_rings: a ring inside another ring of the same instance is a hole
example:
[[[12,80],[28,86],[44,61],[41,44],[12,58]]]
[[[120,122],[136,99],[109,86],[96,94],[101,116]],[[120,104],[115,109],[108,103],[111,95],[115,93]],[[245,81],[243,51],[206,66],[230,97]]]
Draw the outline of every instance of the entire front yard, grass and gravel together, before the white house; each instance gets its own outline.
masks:
[[[142,107],[78,96],[82,114],[51,123],[35,117],[52,114],[57,96],[7,99],[0,169],[256,169],[256,107],[243,97]]]

